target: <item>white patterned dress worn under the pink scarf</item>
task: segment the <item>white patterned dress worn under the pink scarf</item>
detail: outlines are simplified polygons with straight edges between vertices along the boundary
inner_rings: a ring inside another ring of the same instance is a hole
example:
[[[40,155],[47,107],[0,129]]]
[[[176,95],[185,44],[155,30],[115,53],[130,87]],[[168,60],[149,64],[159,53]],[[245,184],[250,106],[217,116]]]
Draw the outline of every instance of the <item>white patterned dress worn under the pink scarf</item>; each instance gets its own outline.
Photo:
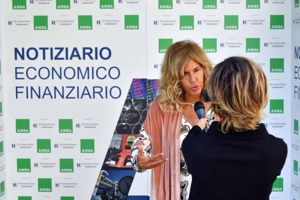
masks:
[[[208,125],[214,120],[214,114],[211,113],[210,110],[207,111],[206,118],[208,120]],[[185,116],[182,115],[181,119],[181,130],[180,130],[180,199],[181,200],[188,200],[190,184],[191,184],[191,174],[188,173],[186,168],[186,163],[184,161],[184,157],[181,152],[181,143],[185,136],[187,135],[188,131],[191,129],[190,123],[185,119]],[[137,164],[137,153],[138,148],[137,145],[141,145],[143,147],[143,153],[146,156],[151,156],[151,141],[143,128],[141,126],[140,133],[138,137],[133,141],[131,146],[131,162],[132,167],[137,172],[143,172],[144,169],[140,169]]]

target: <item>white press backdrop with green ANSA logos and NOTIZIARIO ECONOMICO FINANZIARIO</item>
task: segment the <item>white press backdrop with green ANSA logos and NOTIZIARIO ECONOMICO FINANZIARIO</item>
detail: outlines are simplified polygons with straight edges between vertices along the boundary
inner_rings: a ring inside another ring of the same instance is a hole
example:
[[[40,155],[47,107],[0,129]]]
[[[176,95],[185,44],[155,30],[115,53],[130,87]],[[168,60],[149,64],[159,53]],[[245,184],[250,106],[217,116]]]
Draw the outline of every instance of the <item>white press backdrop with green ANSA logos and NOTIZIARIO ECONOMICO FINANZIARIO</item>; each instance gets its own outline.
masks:
[[[148,199],[129,146],[183,39],[262,67],[262,122],[289,149],[270,199],[300,200],[298,0],[0,2],[0,200]]]

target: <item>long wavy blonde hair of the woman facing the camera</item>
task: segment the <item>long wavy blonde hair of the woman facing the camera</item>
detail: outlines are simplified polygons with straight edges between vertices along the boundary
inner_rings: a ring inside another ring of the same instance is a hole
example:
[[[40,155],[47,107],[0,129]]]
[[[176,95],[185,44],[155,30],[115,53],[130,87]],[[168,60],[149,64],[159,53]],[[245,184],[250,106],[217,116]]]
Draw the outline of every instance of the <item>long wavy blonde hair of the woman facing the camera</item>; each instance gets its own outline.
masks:
[[[177,41],[170,45],[164,55],[160,69],[160,88],[158,90],[159,106],[163,111],[182,112],[182,90],[180,80],[184,76],[184,66],[192,59],[199,63],[204,72],[204,85],[212,70],[212,64],[208,61],[205,52],[194,41],[183,40]],[[200,94],[202,97],[202,92]]]

